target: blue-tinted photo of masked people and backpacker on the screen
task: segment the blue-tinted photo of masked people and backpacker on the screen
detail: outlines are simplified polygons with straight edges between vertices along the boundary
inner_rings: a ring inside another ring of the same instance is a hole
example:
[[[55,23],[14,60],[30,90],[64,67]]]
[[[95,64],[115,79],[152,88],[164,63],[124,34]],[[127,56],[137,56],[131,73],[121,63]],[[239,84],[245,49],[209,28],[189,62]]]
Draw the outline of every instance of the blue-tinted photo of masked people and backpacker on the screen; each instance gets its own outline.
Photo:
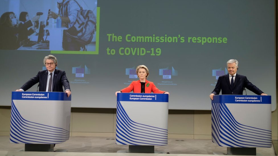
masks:
[[[0,4],[1,50],[96,51],[97,0]]]

